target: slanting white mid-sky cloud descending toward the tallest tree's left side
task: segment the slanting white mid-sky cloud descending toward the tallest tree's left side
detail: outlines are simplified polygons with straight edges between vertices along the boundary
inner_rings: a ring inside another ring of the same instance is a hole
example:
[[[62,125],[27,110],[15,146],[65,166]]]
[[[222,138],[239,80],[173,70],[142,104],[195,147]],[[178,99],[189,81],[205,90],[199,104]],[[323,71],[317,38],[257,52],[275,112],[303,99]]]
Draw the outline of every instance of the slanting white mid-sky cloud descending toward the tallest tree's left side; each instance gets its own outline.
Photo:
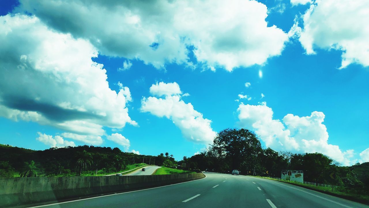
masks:
[[[170,85],[172,84],[172,85]],[[177,86],[177,83],[163,83],[163,86]],[[152,86],[158,86],[152,85]],[[179,86],[177,88],[179,90]],[[151,92],[151,88],[150,88]],[[168,91],[164,91],[168,92]],[[158,91],[151,92],[164,95]],[[180,128],[185,138],[190,141],[208,144],[212,143],[217,132],[211,128],[211,120],[194,110],[191,103],[184,103],[180,95],[166,93],[165,98],[148,97],[141,100],[141,111],[149,112],[158,117],[166,117]]]

